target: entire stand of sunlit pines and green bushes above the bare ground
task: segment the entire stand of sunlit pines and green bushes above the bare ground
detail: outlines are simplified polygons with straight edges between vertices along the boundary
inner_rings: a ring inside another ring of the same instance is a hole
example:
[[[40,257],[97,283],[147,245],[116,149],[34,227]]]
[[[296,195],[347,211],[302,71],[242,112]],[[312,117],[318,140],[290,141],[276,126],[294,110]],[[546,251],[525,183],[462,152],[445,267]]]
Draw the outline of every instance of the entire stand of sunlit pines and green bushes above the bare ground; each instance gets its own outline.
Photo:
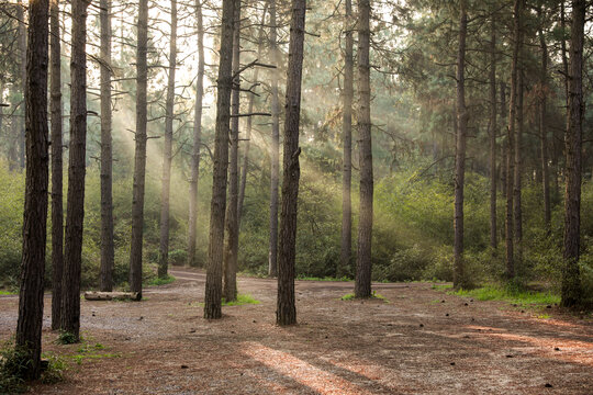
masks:
[[[279,325],[298,321],[299,276],[355,279],[357,297],[371,280],[537,283],[592,304],[589,5],[0,3],[18,346],[38,361],[44,282],[53,329],[78,340],[80,290],[141,300],[182,264],[206,270],[212,319],[237,272],[278,276]]]

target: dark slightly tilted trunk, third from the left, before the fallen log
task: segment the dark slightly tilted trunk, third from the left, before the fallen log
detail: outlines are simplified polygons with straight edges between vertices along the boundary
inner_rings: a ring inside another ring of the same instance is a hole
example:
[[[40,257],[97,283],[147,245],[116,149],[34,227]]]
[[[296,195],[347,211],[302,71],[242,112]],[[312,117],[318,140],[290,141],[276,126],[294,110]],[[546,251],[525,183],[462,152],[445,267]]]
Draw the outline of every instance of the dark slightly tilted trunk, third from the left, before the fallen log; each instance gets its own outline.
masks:
[[[80,338],[80,270],[85,219],[85,173],[87,153],[87,7],[72,1],[72,55],[70,60],[70,149],[66,246],[64,253],[64,300],[61,329]]]

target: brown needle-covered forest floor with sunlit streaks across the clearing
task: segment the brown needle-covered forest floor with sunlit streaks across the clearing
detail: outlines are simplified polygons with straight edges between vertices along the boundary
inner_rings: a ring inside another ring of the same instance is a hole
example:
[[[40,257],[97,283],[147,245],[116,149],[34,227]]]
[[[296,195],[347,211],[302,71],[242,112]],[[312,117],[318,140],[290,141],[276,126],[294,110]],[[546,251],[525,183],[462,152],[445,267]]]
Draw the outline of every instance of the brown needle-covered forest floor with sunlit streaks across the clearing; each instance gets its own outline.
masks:
[[[373,284],[385,300],[342,301],[354,284],[296,282],[299,325],[275,325],[276,281],[239,278],[260,304],[202,318],[203,272],[143,302],[81,303],[82,345],[44,352],[70,368],[35,394],[593,394],[593,323],[551,308],[448,295],[432,283]],[[48,312],[49,298],[45,300]],[[0,339],[18,300],[0,298]]]

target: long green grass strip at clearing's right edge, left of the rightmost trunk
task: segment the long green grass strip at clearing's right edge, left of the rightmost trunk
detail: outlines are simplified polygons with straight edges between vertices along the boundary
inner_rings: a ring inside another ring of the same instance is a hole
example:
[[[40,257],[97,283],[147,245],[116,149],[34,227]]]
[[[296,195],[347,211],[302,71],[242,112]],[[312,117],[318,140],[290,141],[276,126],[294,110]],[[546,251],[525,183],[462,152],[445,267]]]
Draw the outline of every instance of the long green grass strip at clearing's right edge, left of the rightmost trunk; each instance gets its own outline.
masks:
[[[552,305],[560,296],[551,292],[525,291],[516,287],[483,286],[475,290],[449,291],[450,295],[470,296],[478,301],[506,301],[518,305]]]

